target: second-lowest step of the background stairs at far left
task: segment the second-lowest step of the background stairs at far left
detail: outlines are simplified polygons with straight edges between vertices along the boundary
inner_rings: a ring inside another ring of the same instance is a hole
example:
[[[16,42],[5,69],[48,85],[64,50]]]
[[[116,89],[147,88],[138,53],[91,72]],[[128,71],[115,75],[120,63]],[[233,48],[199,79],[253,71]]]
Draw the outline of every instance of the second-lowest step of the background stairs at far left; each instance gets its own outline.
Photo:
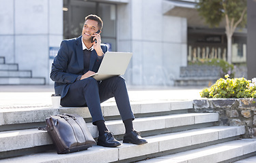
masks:
[[[0,70],[0,77],[32,77],[32,72]]]

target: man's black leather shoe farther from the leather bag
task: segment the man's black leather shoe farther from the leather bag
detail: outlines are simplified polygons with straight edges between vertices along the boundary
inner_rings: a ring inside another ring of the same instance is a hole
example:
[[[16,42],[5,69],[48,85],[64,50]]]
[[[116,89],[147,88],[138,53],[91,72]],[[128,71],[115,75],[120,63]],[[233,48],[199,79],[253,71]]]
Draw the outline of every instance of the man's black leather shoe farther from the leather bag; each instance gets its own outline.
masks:
[[[124,143],[132,143],[137,145],[142,145],[147,143],[146,139],[141,138],[140,133],[136,130],[132,130],[132,132],[128,134],[124,134]]]

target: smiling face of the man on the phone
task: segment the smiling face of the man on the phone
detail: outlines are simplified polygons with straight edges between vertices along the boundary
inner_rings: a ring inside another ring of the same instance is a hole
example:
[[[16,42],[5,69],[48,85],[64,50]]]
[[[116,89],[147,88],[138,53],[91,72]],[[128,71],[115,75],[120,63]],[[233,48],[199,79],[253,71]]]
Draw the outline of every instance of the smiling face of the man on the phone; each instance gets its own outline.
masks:
[[[98,22],[95,20],[86,20],[83,25],[82,36],[83,40],[91,40],[91,35],[94,35],[99,30]]]

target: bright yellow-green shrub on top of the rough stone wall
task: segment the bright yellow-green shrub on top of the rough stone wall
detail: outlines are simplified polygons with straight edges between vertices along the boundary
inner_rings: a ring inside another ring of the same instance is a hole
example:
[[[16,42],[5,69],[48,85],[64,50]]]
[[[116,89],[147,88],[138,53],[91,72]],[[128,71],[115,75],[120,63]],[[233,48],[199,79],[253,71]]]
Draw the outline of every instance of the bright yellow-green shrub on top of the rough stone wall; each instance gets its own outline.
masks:
[[[218,79],[210,88],[204,88],[200,95],[206,98],[256,98],[256,81],[244,79],[244,77],[230,79]]]

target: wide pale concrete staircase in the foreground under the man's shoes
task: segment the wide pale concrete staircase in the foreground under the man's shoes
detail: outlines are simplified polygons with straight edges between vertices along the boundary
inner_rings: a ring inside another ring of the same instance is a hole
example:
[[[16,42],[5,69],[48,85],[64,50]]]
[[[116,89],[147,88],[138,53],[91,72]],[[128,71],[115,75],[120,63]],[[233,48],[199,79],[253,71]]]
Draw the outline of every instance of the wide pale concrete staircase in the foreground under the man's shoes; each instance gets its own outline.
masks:
[[[240,138],[244,126],[216,126],[218,113],[193,113],[193,101],[132,103],[132,110],[137,117],[134,128],[147,139],[147,144],[94,146],[58,155],[48,133],[37,127],[45,126],[49,115],[77,113],[97,138],[98,130],[91,124],[87,107],[0,109],[0,163],[233,162],[255,155],[256,140]],[[115,103],[103,103],[102,113],[109,130],[122,141],[124,124]]]

